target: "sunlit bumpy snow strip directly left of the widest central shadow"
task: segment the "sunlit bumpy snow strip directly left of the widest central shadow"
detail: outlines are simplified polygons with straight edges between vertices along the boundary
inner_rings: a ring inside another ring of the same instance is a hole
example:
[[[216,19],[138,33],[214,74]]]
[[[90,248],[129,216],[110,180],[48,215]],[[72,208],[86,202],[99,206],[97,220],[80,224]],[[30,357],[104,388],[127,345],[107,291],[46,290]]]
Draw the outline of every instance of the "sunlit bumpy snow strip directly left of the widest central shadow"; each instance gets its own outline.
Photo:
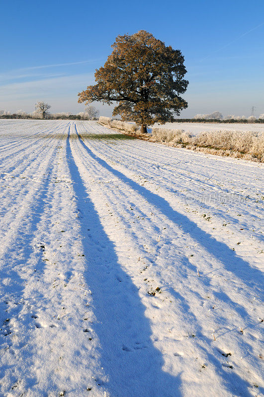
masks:
[[[47,182],[45,197],[36,208],[38,218],[27,232],[27,283],[19,315],[10,320],[10,329],[23,348],[17,351],[14,343],[5,354],[9,360],[10,350],[17,355],[6,369],[5,391],[11,389],[12,380],[20,394],[34,397],[42,397],[48,391],[52,396],[64,391],[68,396],[81,396],[86,395],[88,387],[93,393],[98,389],[98,396],[103,394],[97,385],[104,376],[91,328],[94,315],[89,308],[90,293],[82,276],[83,247],[64,161],[65,142],[62,138],[60,153],[52,162],[53,178]],[[61,182],[55,184],[55,177]],[[96,376],[97,383],[92,376]]]

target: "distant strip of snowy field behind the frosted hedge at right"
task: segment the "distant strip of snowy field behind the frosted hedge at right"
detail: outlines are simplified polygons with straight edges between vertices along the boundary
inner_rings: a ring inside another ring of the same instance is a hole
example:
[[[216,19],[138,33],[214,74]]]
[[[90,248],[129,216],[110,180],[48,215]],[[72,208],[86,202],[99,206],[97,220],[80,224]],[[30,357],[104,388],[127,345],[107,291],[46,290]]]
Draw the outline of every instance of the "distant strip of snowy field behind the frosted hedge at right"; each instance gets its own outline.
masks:
[[[167,128],[169,130],[184,130],[193,135],[204,131],[254,131],[264,132],[264,124],[248,123],[166,123],[154,125],[155,128]]]

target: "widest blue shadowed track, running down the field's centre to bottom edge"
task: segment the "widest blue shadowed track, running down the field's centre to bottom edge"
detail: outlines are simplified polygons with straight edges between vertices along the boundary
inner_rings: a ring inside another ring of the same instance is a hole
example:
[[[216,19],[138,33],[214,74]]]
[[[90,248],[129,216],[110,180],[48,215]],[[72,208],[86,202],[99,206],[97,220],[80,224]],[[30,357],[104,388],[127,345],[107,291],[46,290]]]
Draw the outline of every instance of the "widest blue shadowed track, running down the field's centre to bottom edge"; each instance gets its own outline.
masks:
[[[163,371],[163,356],[151,340],[145,306],[131,278],[119,265],[114,244],[88,198],[72,155],[70,130],[66,156],[78,206],[83,209],[85,276],[97,320],[92,327],[100,341],[101,366],[108,376],[105,386],[115,397],[180,397],[180,373],[172,376]]]

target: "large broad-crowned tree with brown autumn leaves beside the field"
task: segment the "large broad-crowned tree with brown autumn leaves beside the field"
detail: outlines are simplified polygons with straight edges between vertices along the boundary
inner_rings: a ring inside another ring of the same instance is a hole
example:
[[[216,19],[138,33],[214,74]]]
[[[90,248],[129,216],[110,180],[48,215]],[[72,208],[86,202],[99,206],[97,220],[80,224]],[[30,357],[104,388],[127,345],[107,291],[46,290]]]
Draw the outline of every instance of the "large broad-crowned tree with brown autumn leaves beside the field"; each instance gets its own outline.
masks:
[[[175,121],[187,107],[179,96],[188,85],[181,52],[145,30],[117,36],[111,47],[104,66],[95,70],[96,84],[80,92],[78,102],[118,102],[113,116],[135,121],[142,132],[148,125]]]

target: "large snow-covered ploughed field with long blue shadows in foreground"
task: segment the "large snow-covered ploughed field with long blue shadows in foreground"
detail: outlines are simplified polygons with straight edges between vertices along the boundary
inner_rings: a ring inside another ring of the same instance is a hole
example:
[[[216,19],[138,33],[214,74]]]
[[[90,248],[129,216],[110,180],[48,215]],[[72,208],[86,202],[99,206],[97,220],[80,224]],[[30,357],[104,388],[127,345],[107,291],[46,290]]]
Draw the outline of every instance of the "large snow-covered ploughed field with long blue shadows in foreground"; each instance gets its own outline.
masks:
[[[262,396],[262,179],[96,122],[1,120],[0,397]]]

